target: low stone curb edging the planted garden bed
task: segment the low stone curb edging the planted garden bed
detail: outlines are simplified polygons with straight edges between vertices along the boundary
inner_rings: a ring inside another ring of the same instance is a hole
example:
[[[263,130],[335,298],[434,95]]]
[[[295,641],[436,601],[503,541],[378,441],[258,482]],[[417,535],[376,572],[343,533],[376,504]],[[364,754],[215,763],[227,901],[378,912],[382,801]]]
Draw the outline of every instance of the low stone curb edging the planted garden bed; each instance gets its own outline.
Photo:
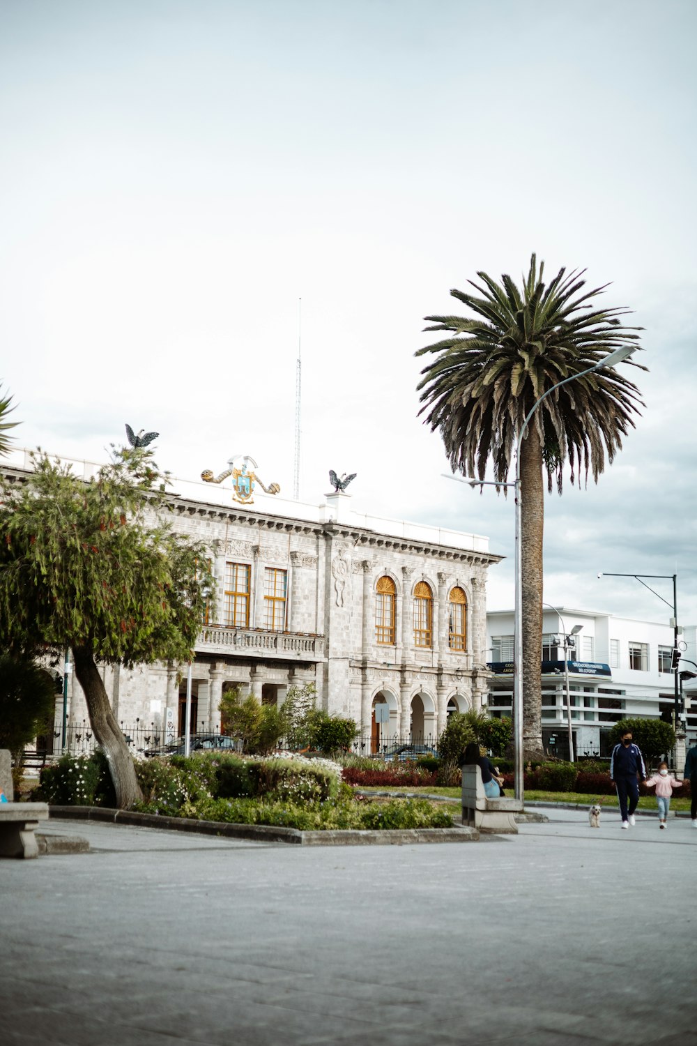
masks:
[[[255,842],[291,843],[296,846],[385,846],[405,843],[469,843],[478,842],[477,828],[457,825],[452,828],[395,828],[394,831],[334,829],[301,832],[270,824],[230,824],[227,821],[193,821],[183,817],[161,817],[104,806],[49,806],[49,818],[62,820],[102,821],[127,824],[132,827],[163,828],[168,832],[195,832],[199,835],[223,836],[229,839],[251,839]],[[46,837],[47,838],[47,837]],[[52,850],[51,852],[57,852]],[[71,851],[74,852],[74,851]]]

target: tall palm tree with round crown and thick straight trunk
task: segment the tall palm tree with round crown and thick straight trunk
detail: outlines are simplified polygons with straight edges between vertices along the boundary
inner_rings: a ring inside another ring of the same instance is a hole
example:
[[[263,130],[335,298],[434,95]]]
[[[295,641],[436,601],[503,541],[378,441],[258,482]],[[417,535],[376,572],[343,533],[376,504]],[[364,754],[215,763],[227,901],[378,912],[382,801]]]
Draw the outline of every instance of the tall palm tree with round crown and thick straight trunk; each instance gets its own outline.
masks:
[[[494,480],[505,482],[513,450],[529,411],[558,382],[591,367],[615,348],[638,342],[642,327],[626,326],[628,309],[599,309],[594,299],[608,285],[583,290],[585,270],[560,269],[545,285],[544,263],[533,254],[522,287],[503,275],[501,285],[485,272],[468,282],[481,297],[450,291],[474,315],[426,316],[452,336],[419,349],[435,358],[424,367],[418,389],[420,414],[440,430],[452,471],[484,479],[489,459]],[[641,364],[633,363],[646,370]],[[611,367],[570,382],[535,411],[520,448],[522,493],[520,561],[522,573],[524,749],[542,748],[542,532],[543,473],[559,494],[568,461],[572,483],[587,483],[611,462],[622,436],[634,427],[632,414],[644,406],[638,389]]]

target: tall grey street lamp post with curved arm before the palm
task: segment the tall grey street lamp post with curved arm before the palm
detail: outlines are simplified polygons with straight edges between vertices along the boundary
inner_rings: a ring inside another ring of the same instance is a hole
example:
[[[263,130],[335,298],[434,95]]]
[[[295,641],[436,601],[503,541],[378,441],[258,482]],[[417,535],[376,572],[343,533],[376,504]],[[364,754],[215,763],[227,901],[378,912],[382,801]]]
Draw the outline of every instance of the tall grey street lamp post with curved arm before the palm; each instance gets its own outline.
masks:
[[[522,445],[522,439],[525,437],[530,419],[539,407],[539,405],[547,400],[552,392],[561,388],[562,385],[567,385],[568,382],[576,381],[577,378],[584,378],[586,374],[593,373],[594,370],[600,370],[601,367],[613,367],[617,363],[622,363],[627,357],[631,356],[632,353],[636,350],[636,345],[622,345],[620,348],[615,348],[613,353],[609,356],[603,357],[597,363],[594,363],[593,367],[586,367],[585,370],[579,370],[577,374],[571,374],[568,378],[564,378],[563,381],[557,382],[551,388],[543,392],[539,400],[536,400],[532,408],[528,412],[528,415],[520,427],[518,433],[518,438],[516,441],[515,449],[515,482],[514,483],[497,483],[491,480],[481,480],[472,479],[471,477],[463,477],[462,482],[469,483],[470,486],[496,486],[506,487],[512,486],[515,492],[515,610],[514,610],[514,665],[513,665],[513,748],[515,753],[515,773],[514,773],[514,784],[515,784],[515,798],[522,800],[524,798],[524,782],[522,782],[522,763],[524,763],[524,751],[522,751],[522,567],[521,567],[521,556],[520,556],[520,530],[521,530],[521,490],[520,490],[520,447]],[[458,476],[448,476],[448,479],[459,479]]]

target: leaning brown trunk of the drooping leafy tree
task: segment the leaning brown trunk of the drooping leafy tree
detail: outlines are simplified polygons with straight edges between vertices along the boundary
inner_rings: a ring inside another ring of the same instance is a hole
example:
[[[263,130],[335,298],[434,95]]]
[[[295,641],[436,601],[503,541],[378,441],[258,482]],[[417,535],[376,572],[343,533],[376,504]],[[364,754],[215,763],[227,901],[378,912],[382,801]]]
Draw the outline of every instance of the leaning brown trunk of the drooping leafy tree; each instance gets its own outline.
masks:
[[[92,651],[87,646],[73,646],[72,653],[77,682],[85,692],[92,731],[109,763],[116,791],[116,805],[119,810],[130,810],[143,796],[129,746],[112,711]]]

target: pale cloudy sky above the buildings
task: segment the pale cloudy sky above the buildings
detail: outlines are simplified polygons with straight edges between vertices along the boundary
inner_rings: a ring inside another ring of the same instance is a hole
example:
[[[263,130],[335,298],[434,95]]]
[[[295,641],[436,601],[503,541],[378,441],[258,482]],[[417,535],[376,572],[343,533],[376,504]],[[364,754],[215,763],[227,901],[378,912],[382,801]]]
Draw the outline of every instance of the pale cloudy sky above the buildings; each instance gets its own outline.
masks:
[[[102,460],[124,424],[182,478],[252,455],[301,499],[488,535],[443,478],[423,317],[484,270],[587,270],[633,310],[646,407],[545,501],[548,602],[697,622],[692,0],[2,0],[0,382],[16,446]],[[672,583],[648,581],[672,604]]]

